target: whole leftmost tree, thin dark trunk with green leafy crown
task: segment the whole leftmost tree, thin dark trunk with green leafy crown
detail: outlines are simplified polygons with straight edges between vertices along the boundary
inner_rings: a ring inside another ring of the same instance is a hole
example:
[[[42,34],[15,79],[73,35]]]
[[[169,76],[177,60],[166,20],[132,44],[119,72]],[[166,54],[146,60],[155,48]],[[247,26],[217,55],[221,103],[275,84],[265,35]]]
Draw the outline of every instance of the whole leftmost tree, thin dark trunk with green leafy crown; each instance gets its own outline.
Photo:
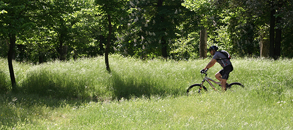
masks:
[[[14,91],[16,89],[16,80],[12,60],[15,54],[16,39],[24,36],[25,32],[34,25],[30,17],[35,8],[32,8],[31,1],[1,1],[0,4],[0,10],[2,10],[2,13],[0,13],[0,32],[4,39],[9,39],[7,59],[12,90]]]

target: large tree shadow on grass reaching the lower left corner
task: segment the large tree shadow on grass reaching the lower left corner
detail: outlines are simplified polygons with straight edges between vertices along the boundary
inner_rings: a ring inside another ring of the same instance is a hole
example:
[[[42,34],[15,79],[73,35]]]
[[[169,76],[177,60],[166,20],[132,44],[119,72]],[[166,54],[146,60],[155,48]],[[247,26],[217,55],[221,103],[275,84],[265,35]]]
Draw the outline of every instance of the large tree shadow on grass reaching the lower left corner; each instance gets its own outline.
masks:
[[[66,106],[79,108],[94,101],[86,85],[84,79],[48,70],[29,72],[15,92],[0,94],[0,129],[13,129],[16,124],[34,122],[33,118],[49,119],[44,110]]]

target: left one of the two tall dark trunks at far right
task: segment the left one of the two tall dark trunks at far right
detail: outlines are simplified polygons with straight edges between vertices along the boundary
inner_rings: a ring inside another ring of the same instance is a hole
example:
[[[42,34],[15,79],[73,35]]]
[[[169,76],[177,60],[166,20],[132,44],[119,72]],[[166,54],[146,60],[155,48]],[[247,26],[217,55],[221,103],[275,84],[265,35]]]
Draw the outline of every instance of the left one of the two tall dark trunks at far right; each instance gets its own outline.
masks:
[[[270,11],[270,30],[269,30],[269,56],[274,58],[274,25],[275,25],[275,17],[276,10],[274,9],[274,5],[272,4],[272,10]]]

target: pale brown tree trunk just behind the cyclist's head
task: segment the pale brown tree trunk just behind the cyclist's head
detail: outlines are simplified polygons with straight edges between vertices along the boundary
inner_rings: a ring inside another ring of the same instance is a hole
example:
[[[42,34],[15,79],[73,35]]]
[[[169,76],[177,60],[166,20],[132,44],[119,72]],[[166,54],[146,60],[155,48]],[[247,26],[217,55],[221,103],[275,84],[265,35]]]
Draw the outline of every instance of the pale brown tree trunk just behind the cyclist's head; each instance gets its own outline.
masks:
[[[207,58],[207,40],[208,40],[208,32],[206,28],[202,28],[200,30],[200,40],[199,40],[199,57]]]

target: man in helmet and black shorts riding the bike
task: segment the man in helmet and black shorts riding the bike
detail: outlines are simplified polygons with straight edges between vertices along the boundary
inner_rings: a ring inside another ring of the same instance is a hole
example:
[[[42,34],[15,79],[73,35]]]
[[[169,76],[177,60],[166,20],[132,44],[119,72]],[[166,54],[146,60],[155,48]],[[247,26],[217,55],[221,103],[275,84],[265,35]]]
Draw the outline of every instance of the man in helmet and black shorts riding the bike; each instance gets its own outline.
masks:
[[[216,62],[218,62],[223,67],[223,69],[219,70],[215,74],[215,77],[216,79],[221,81],[222,91],[225,91],[229,73],[233,71],[233,66],[232,66],[232,63],[230,62],[230,59],[224,53],[221,53],[217,50],[218,50],[217,46],[211,46],[208,49],[211,55],[213,55],[213,59],[208,63],[208,65],[204,69],[200,70],[200,73],[206,72],[209,68],[214,66]]]

